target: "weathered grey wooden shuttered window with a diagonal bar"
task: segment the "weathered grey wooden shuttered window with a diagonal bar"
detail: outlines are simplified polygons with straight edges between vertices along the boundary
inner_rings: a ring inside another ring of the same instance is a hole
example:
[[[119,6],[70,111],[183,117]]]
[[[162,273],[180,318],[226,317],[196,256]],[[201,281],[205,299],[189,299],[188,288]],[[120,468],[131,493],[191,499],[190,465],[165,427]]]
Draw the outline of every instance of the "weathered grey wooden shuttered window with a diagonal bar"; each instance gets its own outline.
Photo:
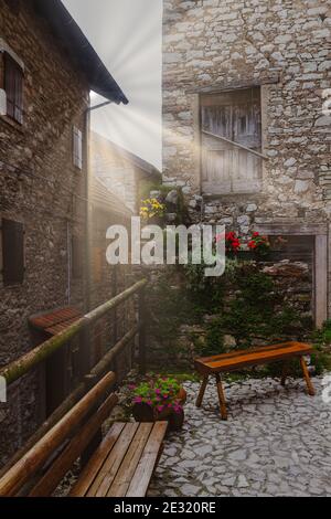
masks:
[[[260,191],[260,88],[201,97],[202,190],[204,194]]]

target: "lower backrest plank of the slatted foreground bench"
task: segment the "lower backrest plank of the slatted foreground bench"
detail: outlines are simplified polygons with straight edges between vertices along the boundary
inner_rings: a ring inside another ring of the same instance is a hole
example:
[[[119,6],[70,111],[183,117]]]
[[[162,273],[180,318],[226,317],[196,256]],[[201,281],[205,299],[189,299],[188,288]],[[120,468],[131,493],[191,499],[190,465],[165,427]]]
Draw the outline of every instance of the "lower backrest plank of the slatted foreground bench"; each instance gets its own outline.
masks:
[[[52,464],[46,474],[44,474],[41,480],[31,490],[30,497],[47,497],[55,490],[67,470],[82,454],[84,448],[86,448],[107,416],[109,416],[117,402],[118,398],[115,394],[111,394],[106,400],[106,402],[94,414],[92,420],[85,424],[82,431],[77,432],[63,453]]]

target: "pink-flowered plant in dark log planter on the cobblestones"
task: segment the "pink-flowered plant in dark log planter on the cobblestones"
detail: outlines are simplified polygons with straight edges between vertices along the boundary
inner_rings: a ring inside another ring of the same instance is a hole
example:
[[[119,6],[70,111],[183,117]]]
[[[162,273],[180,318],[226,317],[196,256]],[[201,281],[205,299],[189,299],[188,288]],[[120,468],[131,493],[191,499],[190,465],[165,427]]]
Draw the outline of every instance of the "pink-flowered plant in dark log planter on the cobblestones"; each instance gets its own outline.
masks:
[[[134,392],[132,415],[137,422],[168,421],[169,428],[180,430],[184,422],[186,392],[173,378],[157,378],[130,386]]]

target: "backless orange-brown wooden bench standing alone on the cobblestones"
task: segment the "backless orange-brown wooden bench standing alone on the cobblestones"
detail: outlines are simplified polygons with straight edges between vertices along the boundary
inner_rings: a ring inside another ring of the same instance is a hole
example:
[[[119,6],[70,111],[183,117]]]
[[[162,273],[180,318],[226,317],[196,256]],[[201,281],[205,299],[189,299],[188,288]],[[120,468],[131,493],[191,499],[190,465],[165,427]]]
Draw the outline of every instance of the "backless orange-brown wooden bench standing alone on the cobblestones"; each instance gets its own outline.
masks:
[[[237,371],[249,366],[267,364],[271,362],[284,361],[281,385],[286,383],[287,362],[290,359],[299,358],[303,377],[307,383],[308,393],[316,394],[311,383],[303,356],[312,353],[312,347],[302,342],[282,342],[280,345],[253,348],[249,350],[234,351],[232,353],[218,354],[215,357],[205,357],[195,359],[195,369],[202,374],[203,381],[196,400],[196,406],[200,407],[203,401],[204,392],[210,375],[215,375],[216,386],[220,400],[220,410],[222,420],[227,420],[226,400],[222,384],[221,373]]]

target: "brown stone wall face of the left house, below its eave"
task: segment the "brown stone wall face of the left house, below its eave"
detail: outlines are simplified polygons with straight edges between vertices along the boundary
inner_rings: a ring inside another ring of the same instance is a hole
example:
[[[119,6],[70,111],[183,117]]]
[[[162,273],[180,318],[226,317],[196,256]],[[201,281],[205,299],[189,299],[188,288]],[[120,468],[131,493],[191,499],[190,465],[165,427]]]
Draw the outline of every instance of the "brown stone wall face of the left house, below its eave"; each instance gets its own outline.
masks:
[[[24,63],[24,115],[22,125],[0,116],[0,219],[24,224],[25,272],[17,286],[3,286],[0,273],[0,366],[31,349],[31,315],[67,304],[83,309],[82,278],[68,290],[68,236],[84,234],[73,194],[84,195],[85,172],[73,166],[72,131],[84,130],[89,91],[32,2],[20,2],[19,14],[9,4],[0,0],[0,34]],[[0,464],[43,417],[40,380],[13,384],[1,405]]]

